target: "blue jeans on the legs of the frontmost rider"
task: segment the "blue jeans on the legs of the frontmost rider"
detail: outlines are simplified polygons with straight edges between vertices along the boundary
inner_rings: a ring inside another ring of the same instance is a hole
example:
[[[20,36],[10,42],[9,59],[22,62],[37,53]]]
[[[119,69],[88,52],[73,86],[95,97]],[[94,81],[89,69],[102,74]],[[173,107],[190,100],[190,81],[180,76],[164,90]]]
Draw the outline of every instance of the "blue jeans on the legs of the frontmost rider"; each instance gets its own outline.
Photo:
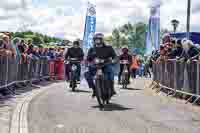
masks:
[[[94,83],[94,77],[96,75],[96,67],[95,66],[89,66],[89,71],[85,73],[85,79],[88,83],[89,88],[94,89],[95,83]],[[103,73],[106,80],[114,81],[114,71],[113,71],[113,65],[106,65],[103,68]]]

